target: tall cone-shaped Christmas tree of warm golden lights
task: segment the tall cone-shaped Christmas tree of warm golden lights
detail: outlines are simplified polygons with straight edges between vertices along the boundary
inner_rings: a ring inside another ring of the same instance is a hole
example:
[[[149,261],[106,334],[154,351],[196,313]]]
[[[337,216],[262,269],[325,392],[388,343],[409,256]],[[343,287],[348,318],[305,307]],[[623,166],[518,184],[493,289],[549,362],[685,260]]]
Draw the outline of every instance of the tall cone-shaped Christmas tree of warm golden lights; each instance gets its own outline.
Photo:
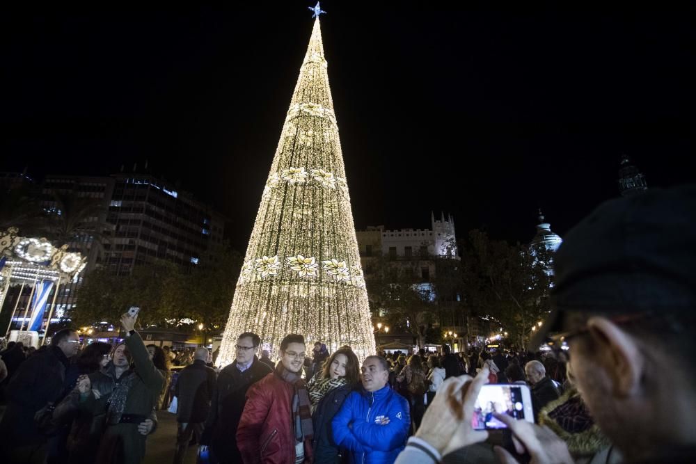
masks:
[[[219,364],[250,331],[277,353],[288,333],[374,354],[345,166],[319,18],[261,196],[223,335]]]

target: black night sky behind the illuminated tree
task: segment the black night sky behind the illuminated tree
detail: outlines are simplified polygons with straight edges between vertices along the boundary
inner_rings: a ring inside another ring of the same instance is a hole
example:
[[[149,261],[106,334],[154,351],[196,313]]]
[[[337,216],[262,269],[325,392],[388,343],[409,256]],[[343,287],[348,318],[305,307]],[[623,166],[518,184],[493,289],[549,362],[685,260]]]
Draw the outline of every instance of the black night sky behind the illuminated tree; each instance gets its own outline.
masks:
[[[0,170],[147,159],[230,216],[244,250],[312,4],[3,13]],[[421,5],[322,1],[358,229],[429,227],[435,210],[459,236],[528,241],[541,207],[562,235],[617,196],[620,152],[651,187],[696,179],[688,6]]]

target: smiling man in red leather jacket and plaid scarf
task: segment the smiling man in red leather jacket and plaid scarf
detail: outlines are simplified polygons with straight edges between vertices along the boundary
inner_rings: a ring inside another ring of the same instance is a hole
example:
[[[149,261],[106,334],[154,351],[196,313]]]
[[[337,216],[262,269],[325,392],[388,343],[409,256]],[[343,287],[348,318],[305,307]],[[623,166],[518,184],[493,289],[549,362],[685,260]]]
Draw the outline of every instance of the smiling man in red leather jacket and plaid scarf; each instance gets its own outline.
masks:
[[[280,342],[280,363],[246,392],[237,428],[237,447],[245,464],[312,462],[312,415],[301,379],[305,358],[302,335]]]

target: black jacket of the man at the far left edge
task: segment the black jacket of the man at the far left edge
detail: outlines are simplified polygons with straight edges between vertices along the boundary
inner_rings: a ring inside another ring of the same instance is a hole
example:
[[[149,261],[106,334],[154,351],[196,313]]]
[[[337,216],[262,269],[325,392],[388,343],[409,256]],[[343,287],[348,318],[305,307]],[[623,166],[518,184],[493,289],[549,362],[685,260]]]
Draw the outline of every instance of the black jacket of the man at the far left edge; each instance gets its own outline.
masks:
[[[34,415],[47,403],[61,399],[67,367],[68,358],[57,346],[49,346],[19,365],[7,385],[8,404],[0,422],[0,437],[8,447],[45,441],[35,427]]]

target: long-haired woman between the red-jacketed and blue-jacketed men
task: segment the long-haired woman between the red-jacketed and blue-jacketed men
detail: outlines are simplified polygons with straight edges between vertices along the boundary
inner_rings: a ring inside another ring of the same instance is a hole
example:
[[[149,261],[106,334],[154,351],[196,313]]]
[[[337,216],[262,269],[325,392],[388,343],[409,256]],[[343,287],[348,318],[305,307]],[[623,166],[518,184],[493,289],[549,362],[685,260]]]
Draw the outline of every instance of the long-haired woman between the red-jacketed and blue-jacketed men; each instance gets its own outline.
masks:
[[[331,420],[343,401],[360,382],[358,357],[349,347],[334,351],[307,384],[315,435],[312,441],[315,463],[347,462],[348,453],[331,438]]]

